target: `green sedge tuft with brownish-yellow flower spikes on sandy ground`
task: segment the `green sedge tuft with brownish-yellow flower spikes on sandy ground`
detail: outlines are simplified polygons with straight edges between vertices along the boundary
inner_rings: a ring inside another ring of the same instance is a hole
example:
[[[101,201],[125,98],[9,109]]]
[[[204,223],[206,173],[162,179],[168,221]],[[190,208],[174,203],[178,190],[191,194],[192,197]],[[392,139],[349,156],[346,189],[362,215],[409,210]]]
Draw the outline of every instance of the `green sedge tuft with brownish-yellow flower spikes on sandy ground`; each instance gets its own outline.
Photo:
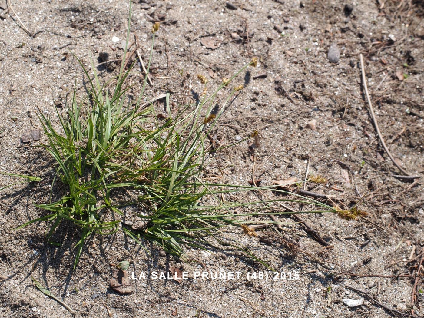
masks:
[[[155,24],[152,28],[152,50],[147,73],[158,30],[159,24]],[[128,36],[129,28],[127,43]],[[126,56],[125,52],[123,56]],[[135,105],[128,103],[126,93],[130,87],[126,86],[126,80],[132,66],[124,70],[125,62],[123,59],[116,84],[112,86],[106,83],[102,86],[95,67],[92,67],[94,78],[90,78],[89,71],[79,61],[89,88],[82,100],[77,98],[74,89],[72,101],[66,105],[67,112],[64,114],[56,109],[60,129],[55,128],[51,117],[39,112],[39,121],[48,140],[39,147],[49,153],[56,163],[51,191],[55,183],[60,182],[67,193],[51,202],[50,192],[48,203],[36,204],[38,208],[48,211],[48,214],[30,220],[17,229],[34,222],[48,222],[46,241],[49,242],[55,231],[60,231],[65,224],[69,226],[64,221],[75,224],[81,231],[81,239],[76,243],[74,269],[84,243],[91,235],[110,235],[117,231],[123,231],[141,246],[142,238],[145,238],[162,246],[166,252],[180,257],[184,257],[184,245],[204,248],[206,241],[202,237],[212,235],[218,243],[235,246],[268,266],[240,243],[224,242],[217,234],[223,228],[240,227],[245,234],[256,236],[248,224],[272,223],[268,221],[269,215],[292,213],[272,210],[277,201],[312,204],[317,208],[301,213],[334,212],[348,218],[348,212],[343,214],[338,208],[278,190],[277,186],[213,184],[202,178],[204,167],[208,160],[213,159],[213,154],[232,146],[226,145],[213,151],[206,147],[207,136],[220,115],[230,100],[235,98],[235,93],[243,89],[242,85],[231,89],[227,84],[247,67],[255,66],[256,58],[231,78],[223,80],[211,95],[206,95],[205,88],[198,103],[171,110],[170,95],[166,94],[165,118],[156,116],[153,105],[146,107],[141,104],[145,98],[147,75]],[[206,87],[206,78],[203,75],[198,77]],[[220,109],[214,112],[217,93],[223,89],[227,92],[227,98],[224,103],[220,103]],[[251,136],[237,143],[249,138]],[[15,176],[25,178],[23,182],[40,180],[39,177]],[[314,182],[323,180],[319,176],[311,179]],[[220,199],[223,194],[252,190],[272,190],[290,196],[252,202]],[[128,206],[137,206],[141,210],[134,216],[146,220],[144,227],[134,230],[121,223],[126,218],[124,211]],[[231,211],[239,207],[245,207],[249,212],[234,215]],[[251,216],[253,220],[242,220],[241,216]]]

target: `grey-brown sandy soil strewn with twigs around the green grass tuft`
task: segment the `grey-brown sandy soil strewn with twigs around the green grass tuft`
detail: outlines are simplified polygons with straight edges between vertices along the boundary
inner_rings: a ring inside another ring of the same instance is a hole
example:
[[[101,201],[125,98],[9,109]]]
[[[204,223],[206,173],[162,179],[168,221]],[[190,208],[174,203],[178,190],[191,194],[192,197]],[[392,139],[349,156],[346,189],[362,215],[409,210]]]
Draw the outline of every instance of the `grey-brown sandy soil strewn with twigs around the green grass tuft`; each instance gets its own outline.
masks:
[[[58,123],[55,106],[69,100],[75,75],[78,94],[84,93],[81,67],[73,53],[86,65],[90,59],[103,61],[99,58],[103,53],[112,60],[122,58],[129,4],[121,0],[15,0],[11,4],[9,13],[0,10],[0,171],[29,173],[46,182],[0,193],[0,316],[73,316],[34,287],[31,273],[78,317],[394,315],[346,285],[366,290],[386,308],[424,316],[422,294],[417,293],[411,305],[414,283],[424,290],[424,271],[417,274],[424,253],[422,181],[393,176],[401,173],[379,142],[358,67],[363,53],[368,88],[388,147],[405,170],[421,176],[421,1],[133,3],[131,36],[137,35],[144,59],[148,58],[151,26],[156,20],[161,22],[149,98],[171,92],[174,104],[187,103],[202,92],[197,74],[206,75],[217,86],[221,78],[257,56],[258,67],[237,78],[236,84],[244,84],[245,89],[223,114],[215,142],[228,144],[258,130],[254,174],[262,184],[288,177],[304,179],[309,162],[310,174],[324,175],[329,181],[308,185],[307,190],[333,195],[342,207],[351,206],[369,191],[360,203],[370,213],[369,221],[302,215],[330,248],[324,248],[291,218],[280,218],[291,223],[286,225],[290,231],[286,234],[307,253],[293,256],[276,242],[268,245],[239,229],[227,232],[227,237],[251,248],[279,272],[299,273],[299,279],[250,282],[245,279],[247,273],[265,268],[231,248],[211,248],[210,253],[187,248],[189,261],[182,262],[143,241],[150,257],[123,234],[94,237],[72,272],[78,241],[74,227],[56,233],[60,248],[45,242],[46,224],[13,231],[43,215],[33,203],[47,200],[54,171],[49,156],[31,147],[36,142],[23,143],[22,135],[40,128],[37,107]],[[329,62],[331,45],[340,52],[337,63]],[[117,72],[114,62],[98,70],[105,81]],[[138,70],[136,66],[130,78],[136,84],[131,94],[139,91]],[[223,182],[247,184],[252,179],[253,156],[248,143],[241,143],[220,153],[208,172]],[[0,186],[13,180],[0,175]],[[253,193],[232,199],[252,198]],[[134,293],[122,296],[109,288],[109,279],[110,264],[123,259],[131,261],[128,271],[135,276],[176,266],[188,271],[190,279],[181,285],[172,280],[133,280]],[[243,278],[234,282],[193,279],[194,271],[206,268],[240,271]],[[237,288],[228,290],[232,283]],[[361,299],[363,305],[349,308],[344,298]]]

